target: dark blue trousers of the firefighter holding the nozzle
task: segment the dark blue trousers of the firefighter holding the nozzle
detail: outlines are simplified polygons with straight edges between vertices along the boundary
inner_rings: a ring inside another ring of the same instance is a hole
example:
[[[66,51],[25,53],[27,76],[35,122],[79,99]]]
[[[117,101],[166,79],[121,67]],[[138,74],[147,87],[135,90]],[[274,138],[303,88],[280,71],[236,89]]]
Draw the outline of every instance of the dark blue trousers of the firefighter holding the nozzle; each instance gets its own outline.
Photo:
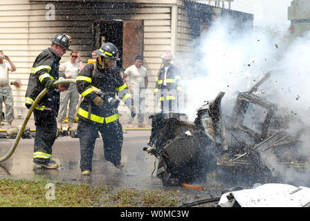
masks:
[[[120,165],[122,151],[122,124],[119,120],[108,124],[92,124],[83,120],[79,120],[78,134],[80,138],[81,171],[92,170],[93,149],[95,140],[100,131],[103,141],[104,158],[114,164]]]

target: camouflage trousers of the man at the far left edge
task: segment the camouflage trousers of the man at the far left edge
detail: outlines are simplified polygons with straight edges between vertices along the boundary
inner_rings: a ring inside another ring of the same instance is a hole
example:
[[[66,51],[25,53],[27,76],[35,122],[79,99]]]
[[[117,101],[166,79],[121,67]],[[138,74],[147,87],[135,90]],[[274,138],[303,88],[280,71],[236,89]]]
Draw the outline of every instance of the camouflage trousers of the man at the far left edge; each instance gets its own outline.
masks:
[[[12,122],[14,119],[14,102],[10,86],[0,86],[0,110],[2,110],[2,102],[6,105],[6,121]],[[0,115],[0,121],[2,121],[2,115]]]

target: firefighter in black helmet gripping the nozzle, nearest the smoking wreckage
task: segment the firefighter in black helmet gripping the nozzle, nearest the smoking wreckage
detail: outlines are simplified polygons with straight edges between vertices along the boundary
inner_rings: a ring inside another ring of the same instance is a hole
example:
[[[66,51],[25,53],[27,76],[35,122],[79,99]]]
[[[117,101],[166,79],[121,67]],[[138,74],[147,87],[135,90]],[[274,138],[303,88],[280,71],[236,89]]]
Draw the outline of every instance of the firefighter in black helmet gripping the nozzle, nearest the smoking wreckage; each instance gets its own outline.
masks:
[[[118,169],[123,167],[120,161],[123,135],[118,119],[119,100],[115,99],[116,94],[131,113],[134,111],[131,93],[122,81],[120,70],[116,68],[116,61],[120,60],[118,48],[108,42],[95,50],[95,53],[99,55],[96,63],[87,64],[76,78],[78,92],[84,97],[78,109],[82,175],[91,173],[93,148],[98,131],[102,135],[104,158]]]

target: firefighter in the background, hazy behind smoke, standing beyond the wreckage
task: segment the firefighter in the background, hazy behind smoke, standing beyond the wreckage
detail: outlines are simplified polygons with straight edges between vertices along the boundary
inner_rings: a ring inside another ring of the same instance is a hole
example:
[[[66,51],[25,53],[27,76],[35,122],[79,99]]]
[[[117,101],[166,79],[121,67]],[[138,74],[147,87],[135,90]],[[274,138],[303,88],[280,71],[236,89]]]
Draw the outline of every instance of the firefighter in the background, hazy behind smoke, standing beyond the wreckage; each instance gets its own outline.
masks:
[[[176,113],[178,98],[181,93],[180,75],[176,66],[171,64],[172,53],[167,51],[161,55],[162,66],[156,78],[154,95],[161,101],[161,113]]]

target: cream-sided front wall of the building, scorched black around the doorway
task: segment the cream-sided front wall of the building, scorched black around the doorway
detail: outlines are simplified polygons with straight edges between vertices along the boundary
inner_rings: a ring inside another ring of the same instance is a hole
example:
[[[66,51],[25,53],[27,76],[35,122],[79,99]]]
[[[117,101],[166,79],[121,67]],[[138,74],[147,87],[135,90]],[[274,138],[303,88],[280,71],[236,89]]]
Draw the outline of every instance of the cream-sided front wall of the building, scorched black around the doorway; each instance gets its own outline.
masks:
[[[113,19],[144,20],[144,66],[149,70],[149,88],[154,88],[160,55],[171,49],[171,6],[165,4],[131,4],[129,8],[111,8],[109,3],[93,4],[53,2],[55,19],[51,6],[44,1],[4,0],[0,3],[0,48],[8,54],[17,66],[17,72],[10,73],[10,80],[21,79],[21,88],[12,86],[15,99],[15,113],[26,115],[24,95],[28,84],[30,68],[35,57],[51,45],[48,37],[64,32],[73,38],[72,50],[78,50],[86,64],[91,58],[93,44],[93,21]],[[49,7],[48,7],[49,6]],[[131,8],[130,8],[131,7]],[[61,64],[69,60],[69,52],[62,57]],[[151,105],[151,104],[149,104]]]

